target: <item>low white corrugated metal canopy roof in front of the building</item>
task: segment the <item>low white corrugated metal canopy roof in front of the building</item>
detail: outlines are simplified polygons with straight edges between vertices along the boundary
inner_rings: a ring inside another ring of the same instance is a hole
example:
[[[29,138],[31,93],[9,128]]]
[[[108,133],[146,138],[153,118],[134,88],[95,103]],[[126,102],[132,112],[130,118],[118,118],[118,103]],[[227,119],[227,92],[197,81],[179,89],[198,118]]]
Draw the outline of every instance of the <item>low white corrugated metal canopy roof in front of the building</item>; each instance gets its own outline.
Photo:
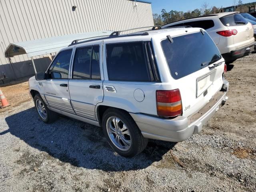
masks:
[[[103,30],[99,32],[87,32],[57,36],[45,39],[30,40],[24,42],[10,43],[5,50],[5,57],[27,54],[28,57],[58,52],[62,48],[71,44],[73,40],[90,39],[98,36],[108,36],[113,31]]]

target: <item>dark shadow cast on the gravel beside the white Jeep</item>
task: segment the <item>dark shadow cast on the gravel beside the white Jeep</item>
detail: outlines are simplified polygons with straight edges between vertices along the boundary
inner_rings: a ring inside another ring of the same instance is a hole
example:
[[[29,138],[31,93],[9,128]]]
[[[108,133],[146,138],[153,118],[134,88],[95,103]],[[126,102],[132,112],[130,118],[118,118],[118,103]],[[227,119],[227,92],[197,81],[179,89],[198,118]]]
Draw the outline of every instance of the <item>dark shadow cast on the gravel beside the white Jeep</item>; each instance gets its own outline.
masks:
[[[138,170],[160,161],[176,143],[150,140],[147,148],[134,158],[117,155],[106,142],[101,128],[67,117],[60,117],[52,124],[44,124],[35,108],[7,117],[8,132],[33,148],[47,152],[77,167],[104,171]],[[28,151],[24,151],[24,154]],[[22,157],[26,158],[26,157]],[[28,164],[30,161],[28,160]]]

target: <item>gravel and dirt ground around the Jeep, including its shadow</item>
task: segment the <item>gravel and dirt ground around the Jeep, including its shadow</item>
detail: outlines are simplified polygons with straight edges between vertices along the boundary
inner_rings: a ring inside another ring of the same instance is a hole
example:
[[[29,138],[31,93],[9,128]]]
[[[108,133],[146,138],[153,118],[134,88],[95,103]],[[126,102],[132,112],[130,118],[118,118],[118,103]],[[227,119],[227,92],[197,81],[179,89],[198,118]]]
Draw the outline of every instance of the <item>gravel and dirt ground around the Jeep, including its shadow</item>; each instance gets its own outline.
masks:
[[[134,158],[113,152],[98,127],[64,116],[44,124],[27,90],[5,87],[14,104],[0,109],[0,191],[256,191],[255,62],[228,66],[229,99],[200,134],[150,140]]]

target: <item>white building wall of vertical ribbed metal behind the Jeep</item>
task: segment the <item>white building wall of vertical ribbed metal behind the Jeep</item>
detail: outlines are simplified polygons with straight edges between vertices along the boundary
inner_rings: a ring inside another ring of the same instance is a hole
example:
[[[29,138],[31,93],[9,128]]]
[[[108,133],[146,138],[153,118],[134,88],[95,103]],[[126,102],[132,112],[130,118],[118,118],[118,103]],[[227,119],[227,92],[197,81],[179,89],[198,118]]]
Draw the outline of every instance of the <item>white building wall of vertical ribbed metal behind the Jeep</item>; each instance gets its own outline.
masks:
[[[34,74],[26,54],[5,57],[10,43],[153,25],[151,3],[144,0],[0,0],[0,78]],[[48,57],[34,61],[37,71],[50,64]]]

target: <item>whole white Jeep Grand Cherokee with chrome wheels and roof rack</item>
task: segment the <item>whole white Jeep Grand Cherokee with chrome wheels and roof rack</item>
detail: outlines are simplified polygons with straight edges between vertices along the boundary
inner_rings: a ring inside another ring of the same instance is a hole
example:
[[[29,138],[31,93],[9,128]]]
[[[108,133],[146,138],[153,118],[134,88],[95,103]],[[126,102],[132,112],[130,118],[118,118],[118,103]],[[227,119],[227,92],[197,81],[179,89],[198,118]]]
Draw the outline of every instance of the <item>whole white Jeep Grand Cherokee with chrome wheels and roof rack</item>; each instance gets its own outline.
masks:
[[[180,142],[200,132],[226,101],[225,67],[200,28],[114,32],[72,42],[29,86],[42,121],[59,113],[100,126],[131,157],[148,138]]]

